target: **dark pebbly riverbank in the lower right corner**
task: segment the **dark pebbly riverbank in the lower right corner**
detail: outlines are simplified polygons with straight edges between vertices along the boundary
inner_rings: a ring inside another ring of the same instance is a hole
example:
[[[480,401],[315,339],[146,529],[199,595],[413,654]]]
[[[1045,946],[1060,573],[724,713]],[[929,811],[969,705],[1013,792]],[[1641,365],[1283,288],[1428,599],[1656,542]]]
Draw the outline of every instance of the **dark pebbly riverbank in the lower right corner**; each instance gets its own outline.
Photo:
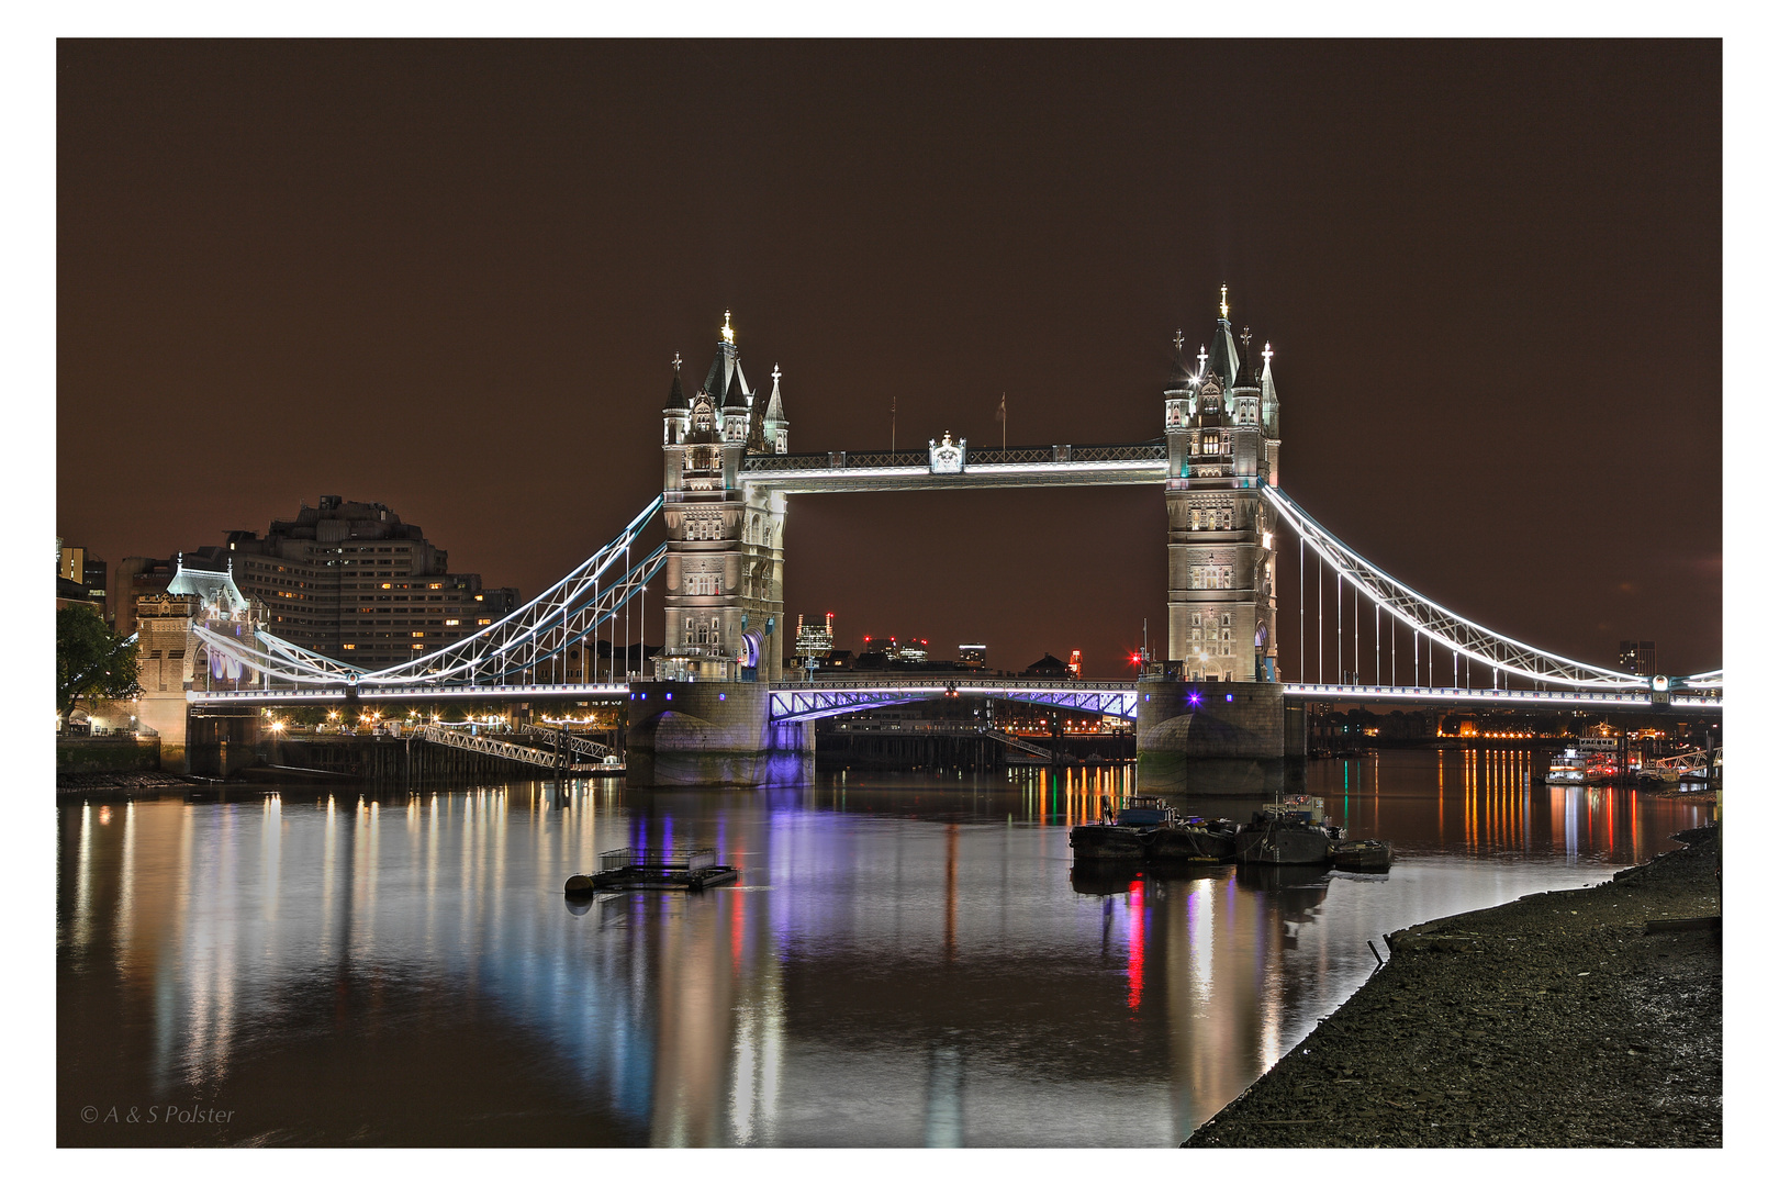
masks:
[[[1391,958],[1185,1147],[1720,1147],[1717,829]],[[1667,923],[1669,926],[1663,926]]]

